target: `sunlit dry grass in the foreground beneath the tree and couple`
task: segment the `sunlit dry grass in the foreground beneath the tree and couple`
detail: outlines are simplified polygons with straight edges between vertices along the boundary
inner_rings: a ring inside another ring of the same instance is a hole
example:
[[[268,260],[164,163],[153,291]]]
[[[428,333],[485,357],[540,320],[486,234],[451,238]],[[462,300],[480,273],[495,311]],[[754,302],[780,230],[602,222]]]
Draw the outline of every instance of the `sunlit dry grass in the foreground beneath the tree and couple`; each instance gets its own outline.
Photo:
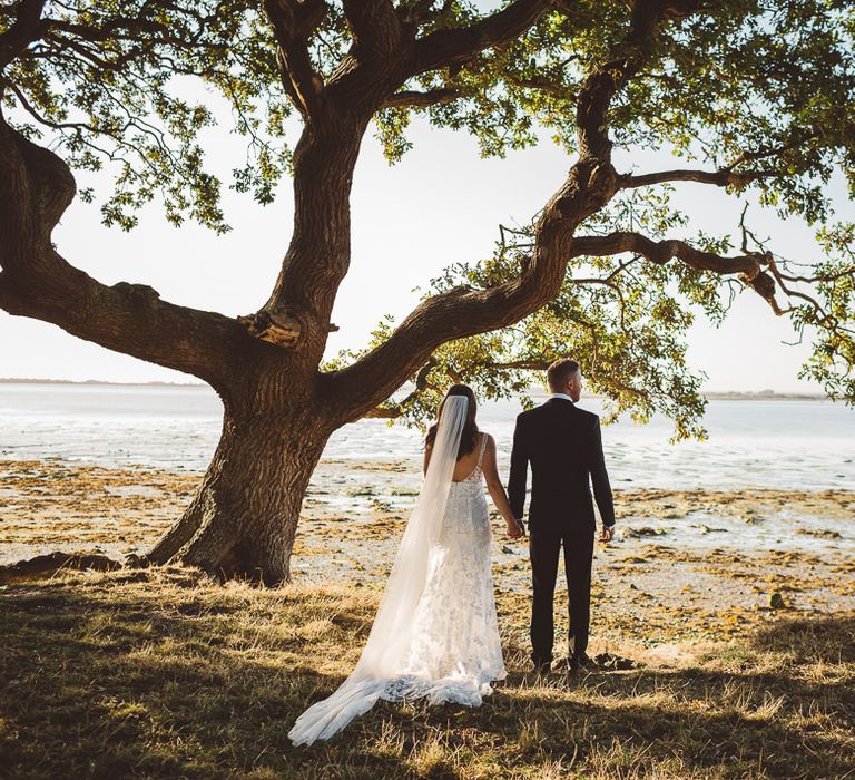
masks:
[[[375,599],[181,568],[0,588],[0,776],[853,774],[855,612],[769,613],[679,665],[538,679],[510,594],[510,675],[483,708],[381,703],[328,743],[292,747],[294,719],[355,663]]]

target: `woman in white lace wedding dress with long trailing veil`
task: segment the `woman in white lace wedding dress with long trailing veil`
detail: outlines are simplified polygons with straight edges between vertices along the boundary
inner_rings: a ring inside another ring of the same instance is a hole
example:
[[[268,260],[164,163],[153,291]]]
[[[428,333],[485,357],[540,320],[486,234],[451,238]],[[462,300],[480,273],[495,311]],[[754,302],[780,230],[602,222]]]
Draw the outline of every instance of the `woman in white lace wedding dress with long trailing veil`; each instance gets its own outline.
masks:
[[[513,518],[495,465],[495,441],[475,423],[475,396],[452,386],[428,431],[424,482],[406,524],[368,641],[351,675],[306,710],[294,744],[328,739],[377,699],[426,698],[480,706],[504,679],[490,573],[483,481],[511,538]]]

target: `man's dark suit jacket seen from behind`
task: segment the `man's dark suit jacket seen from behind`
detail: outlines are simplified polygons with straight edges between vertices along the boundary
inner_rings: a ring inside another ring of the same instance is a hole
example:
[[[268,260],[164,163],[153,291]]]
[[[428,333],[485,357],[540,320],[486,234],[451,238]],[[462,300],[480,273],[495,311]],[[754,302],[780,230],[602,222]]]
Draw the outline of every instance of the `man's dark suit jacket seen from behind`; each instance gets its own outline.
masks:
[[[551,398],[517,418],[508,496],[522,518],[531,464],[529,525],[533,529],[587,529],[596,525],[588,475],[606,526],[615,525],[600,418],[572,401]]]

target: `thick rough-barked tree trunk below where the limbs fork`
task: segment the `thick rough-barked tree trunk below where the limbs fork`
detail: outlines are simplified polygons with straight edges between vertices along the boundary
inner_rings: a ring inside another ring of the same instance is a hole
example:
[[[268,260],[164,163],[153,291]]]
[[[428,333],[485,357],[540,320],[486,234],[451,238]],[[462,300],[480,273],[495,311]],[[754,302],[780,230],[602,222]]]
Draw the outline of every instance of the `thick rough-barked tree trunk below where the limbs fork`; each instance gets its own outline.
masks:
[[[293,399],[261,410],[252,399],[227,402],[198,493],[148,559],[198,566],[220,581],[288,581],[303,498],[332,431],[323,419]]]

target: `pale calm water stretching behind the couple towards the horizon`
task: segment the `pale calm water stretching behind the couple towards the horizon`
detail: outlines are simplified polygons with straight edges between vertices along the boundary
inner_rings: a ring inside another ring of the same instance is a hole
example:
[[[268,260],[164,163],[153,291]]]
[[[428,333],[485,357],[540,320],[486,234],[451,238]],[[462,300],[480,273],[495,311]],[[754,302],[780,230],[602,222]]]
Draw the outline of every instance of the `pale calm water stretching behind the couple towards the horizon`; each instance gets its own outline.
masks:
[[[597,400],[580,404],[598,412]],[[515,402],[487,404],[507,470]],[[0,384],[0,458],[59,457],[107,466],[204,469],[222,408],[207,387]],[[603,429],[616,487],[800,489],[855,487],[855,410],[826,401],[710,401],[705,442],[668,443],[671,423],[621,420]],[[420,458],[416,431],[362,420],[336,431],[325,458]],[[417,468],[414,466],[414,468]]]

